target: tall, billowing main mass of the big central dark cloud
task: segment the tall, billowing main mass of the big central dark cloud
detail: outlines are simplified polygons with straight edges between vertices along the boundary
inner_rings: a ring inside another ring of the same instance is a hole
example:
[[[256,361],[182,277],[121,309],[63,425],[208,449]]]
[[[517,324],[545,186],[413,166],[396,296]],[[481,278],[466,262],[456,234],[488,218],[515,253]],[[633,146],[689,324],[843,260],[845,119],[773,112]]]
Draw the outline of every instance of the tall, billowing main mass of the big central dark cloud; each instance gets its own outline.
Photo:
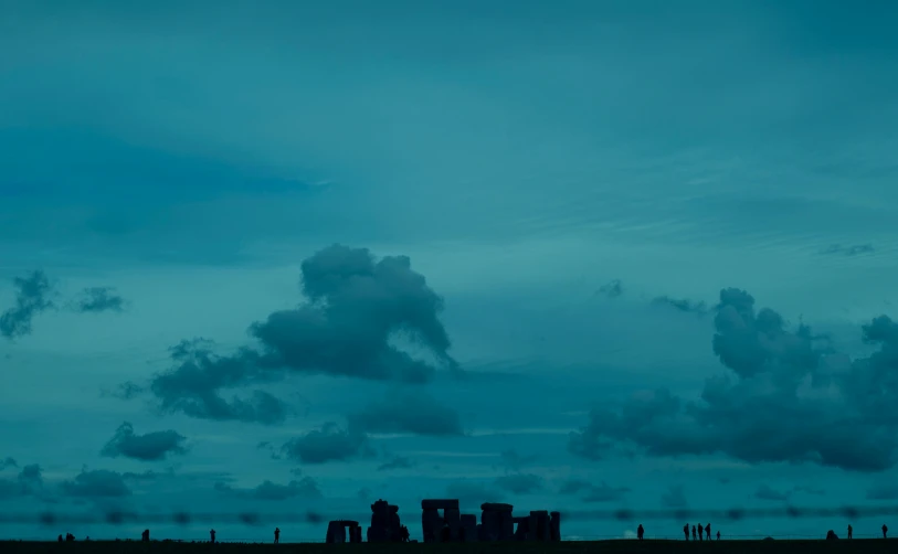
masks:
[[[391,340],[401,335],[450,367],[443,299],[406,256],[380,260],[367,248],[332,245],[302,264],[309,300],[251,327],[266,351],[292,370],[374,381],[425,383],[436,366]]]

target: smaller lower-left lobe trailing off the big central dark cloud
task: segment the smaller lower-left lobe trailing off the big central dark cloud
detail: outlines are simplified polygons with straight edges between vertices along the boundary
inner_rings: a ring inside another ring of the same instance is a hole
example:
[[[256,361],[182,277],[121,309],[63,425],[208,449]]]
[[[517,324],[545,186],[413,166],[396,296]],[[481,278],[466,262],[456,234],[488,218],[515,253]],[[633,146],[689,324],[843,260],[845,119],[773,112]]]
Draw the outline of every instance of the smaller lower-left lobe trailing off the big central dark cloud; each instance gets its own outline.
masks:
[[[175,367],[156,375],[149,387],[159,401],[159,409],[199,419],[283,423],[289,413],[287,405],[265,391],[254,390],[249,397],[234,395],[230,399],[221,394],[224,388],[278,381],[283,373],[250,349],[220,356],[211,347],[211,341],[193,339],[169,349]]]

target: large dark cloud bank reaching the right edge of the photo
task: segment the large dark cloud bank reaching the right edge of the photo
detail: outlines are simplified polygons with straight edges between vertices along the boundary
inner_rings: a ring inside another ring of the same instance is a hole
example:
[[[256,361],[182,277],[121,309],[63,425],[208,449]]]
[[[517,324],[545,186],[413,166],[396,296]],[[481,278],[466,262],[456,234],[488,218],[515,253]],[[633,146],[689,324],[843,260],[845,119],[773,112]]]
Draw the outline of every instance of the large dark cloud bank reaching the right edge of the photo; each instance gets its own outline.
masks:
[[[771,309],[756,312],[743,290],[721,290],[715,311],[712,350],[729,375],[706,380],[697,402],[658,388],[620,411],[594,409],[569,450],[600,459],[635,445],[651,456],[723,452],[854,471],[895,466],[898,324],[880,316],[862,326],[863,339],[879,349],[852,361],[804,323],[790,329]]]

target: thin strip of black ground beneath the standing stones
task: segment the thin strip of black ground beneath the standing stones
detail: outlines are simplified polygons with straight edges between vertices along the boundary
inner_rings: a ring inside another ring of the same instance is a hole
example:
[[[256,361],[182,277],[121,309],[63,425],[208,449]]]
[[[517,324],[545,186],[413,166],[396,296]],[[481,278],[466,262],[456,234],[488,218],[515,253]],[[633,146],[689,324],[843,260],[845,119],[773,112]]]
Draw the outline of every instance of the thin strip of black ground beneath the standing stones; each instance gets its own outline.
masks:
[[[151,542],[0,542],[0,554],[828,554],[898,553],[898,541],[596,541],[560,543],[467,543],[467,544],[240,544]]]

